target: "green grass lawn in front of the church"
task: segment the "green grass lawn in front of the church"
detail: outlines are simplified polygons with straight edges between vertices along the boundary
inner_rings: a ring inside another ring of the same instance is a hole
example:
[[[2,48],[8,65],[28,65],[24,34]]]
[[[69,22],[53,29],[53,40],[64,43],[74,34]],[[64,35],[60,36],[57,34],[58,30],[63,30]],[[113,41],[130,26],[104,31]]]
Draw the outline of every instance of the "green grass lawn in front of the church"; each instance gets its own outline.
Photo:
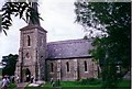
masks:
[[[57,85],[57,81],[55,82]],[[51,82],[46,82],[41,87],[25,87],[24,89],[102,89],[101,80],[79,80],[79,81],[61,81],[59,86],[53,87]],[[14,89],[16,86],[11,84],[8,89]],[[130,80],[123,79],[119,84],[118,89],[130,89]]]

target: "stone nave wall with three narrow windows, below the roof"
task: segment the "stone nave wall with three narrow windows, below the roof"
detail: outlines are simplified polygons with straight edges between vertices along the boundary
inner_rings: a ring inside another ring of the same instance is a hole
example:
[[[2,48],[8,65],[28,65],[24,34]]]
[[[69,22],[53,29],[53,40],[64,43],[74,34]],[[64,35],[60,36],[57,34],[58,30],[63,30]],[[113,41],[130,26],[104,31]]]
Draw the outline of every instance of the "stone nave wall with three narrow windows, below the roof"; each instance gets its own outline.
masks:
[[[69,64],[69,71],[67,71],[67,62]],[[85,71],[84,62],[87,63],[87,71]],[[98,77],[97,64],[92,62],[91,58],[52,59],[47,60],[46,63],[47,80],[53,78],[54,80],[61,79],[66,81]],[[54,64],[53,71],[51,71],[51,63]]]

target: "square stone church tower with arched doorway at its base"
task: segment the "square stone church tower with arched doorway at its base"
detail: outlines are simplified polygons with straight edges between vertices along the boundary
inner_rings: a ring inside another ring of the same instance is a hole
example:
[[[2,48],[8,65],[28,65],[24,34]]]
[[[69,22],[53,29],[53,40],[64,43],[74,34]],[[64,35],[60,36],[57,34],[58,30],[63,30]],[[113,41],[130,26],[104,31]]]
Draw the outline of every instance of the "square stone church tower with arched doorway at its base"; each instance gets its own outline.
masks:
[[[32,7],[37,11],[36,2]],[[41,27],[40,20],[29,20],[28,26],[20,30],[19,60],[15,75],[21,81],[29,81],[31,75],[35,79],[45,79],[46,31]]]

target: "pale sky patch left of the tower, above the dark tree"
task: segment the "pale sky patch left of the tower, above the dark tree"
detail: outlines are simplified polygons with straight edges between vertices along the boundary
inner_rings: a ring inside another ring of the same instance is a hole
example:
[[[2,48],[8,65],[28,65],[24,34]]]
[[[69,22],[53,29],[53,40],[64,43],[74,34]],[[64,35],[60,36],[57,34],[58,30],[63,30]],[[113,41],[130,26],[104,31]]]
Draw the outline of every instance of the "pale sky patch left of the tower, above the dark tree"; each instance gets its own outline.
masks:
[[[15,19],[15,20],[14,20]],[[0,59],[9,54],[18,54],[20,47],[20,29],[25,25],[19,18],[13,19],[13,25],[7,31],[8,35],[0,33]]]

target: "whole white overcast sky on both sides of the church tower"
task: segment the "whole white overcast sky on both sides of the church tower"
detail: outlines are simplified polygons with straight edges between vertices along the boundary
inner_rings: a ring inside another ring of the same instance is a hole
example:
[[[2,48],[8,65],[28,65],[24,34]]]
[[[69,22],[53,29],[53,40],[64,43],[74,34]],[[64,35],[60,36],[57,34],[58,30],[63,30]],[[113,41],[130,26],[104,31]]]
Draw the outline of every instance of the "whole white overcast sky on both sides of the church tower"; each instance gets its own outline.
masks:
[[[74,2],[76,0],[40,0],[40,13],[44,21],[42,27],[47,31],[47,42],[82,38],[85,33],[81,25],[75,23]],[[4,0],[0,0],[0,7]],[[0,33],[0,59],[9,54],[18,54],[20,47],[20,29],[25,22],[13,19],[13,25],[7,32]]]

